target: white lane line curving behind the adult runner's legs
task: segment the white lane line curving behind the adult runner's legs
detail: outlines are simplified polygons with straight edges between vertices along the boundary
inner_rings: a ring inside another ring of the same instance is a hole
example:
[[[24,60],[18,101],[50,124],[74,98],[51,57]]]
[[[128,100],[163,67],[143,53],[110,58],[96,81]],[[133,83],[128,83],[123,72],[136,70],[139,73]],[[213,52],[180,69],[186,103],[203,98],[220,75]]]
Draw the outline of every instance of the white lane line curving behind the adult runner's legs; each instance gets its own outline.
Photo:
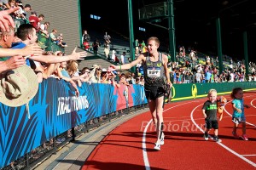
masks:
[[[189,103],[197,103],[198,101],[191,101],[191,102],[187,102],[187,103],[183,103],[183,104],[180,104],[180,105],[186,105],[186,104],[189,104]],[[177,106],[180,106],[180,105],[174,105],[168,109],[166,109],[165,111],[169,111],[170,109],[172,108],[175,108]],[[163,111],[163,112],[165,112]],[[148,161],[148,153],[147,153],[147,147],[146,147],[146,134],[147,134],[147,130],[148,130],[148,127],[149,125],[151,124],[153,120],[151,119],[147,126],[145,127],[144,131],[143,131],[143,161],[144,161],[144,165],[145,165],[145,168],[146,170],[150,170],[150,164],[149,164],[149,161]]]

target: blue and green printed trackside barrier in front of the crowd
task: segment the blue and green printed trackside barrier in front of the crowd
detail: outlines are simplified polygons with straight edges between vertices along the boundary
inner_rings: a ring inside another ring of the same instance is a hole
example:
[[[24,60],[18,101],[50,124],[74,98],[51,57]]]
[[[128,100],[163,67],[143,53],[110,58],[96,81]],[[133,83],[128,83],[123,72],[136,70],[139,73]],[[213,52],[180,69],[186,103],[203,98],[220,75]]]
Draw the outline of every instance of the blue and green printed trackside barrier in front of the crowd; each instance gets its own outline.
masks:
[[[210,88],[217,89],[218,94],[230,94],[232,88],[255,90],[255,85],[255,82],[174,84],[172,101],[205,97]],[[38,94],[29,102],[30,118],[26,105],[0,104],[0,168],[90,119],[147,104],[143,86],[131,85],[126,96],[124,91],[122,85],[113,88],[109,84],[84,82],[76,98],[70,83],[49,78],[39,84]]]

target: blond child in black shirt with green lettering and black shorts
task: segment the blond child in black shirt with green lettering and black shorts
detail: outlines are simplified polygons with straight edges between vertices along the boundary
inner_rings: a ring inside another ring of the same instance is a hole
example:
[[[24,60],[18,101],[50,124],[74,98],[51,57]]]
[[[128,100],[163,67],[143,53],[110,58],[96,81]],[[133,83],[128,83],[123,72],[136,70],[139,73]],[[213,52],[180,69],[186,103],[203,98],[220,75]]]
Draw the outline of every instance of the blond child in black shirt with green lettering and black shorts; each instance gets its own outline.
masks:
[[[206,121],[204,138],[205,140],[209,139],[209,131],[211,128],[213,128],[213,140],[215,140],[216,142],[221,142],[221,139],[218,139],[217,91],[215,89],[210,89],[207,97],[208,100],[204,103],[202,107],[202,114]],[[219,121],[221,121],[221,119],[222,115],[220,116]]]

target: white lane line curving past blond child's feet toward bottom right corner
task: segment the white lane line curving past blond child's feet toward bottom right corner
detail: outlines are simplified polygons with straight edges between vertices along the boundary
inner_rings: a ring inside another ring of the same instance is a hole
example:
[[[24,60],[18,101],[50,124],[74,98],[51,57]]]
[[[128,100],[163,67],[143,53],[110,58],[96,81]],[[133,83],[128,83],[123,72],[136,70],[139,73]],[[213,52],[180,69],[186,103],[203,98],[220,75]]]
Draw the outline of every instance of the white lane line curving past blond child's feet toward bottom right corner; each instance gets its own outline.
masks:
[[[201,104],[201,105],[202,105],[202,104]],[[197,105],[197,106],[195,107],[195,109],[196,109],[197,107],[199,107],[199,106],[200,106],[200,105]],[[201,130],[202,133],[204,133],[204,130],[196,124],[196,122],[195,122],[195,120],[194,120],[194,118],[193,118],[193,114],[194,114],[195,109],[194,109],[193,111],[191,111],[191,113],[190,113],[191,121],[195,124],[195,126],[196,126],[199,130]],[[211,139],[212,139],[212,138],[211,138]],[[248,159],[245,158],[244,156],[238,154],[236,151],[231,150],[228,146],[226,146],[226,145],[224,145],[224,144],[222,144],[222,143],[219,143],[219,142],[216,142],[216,144],[219,144],[219,145],[222,146],[224,149],[229,150],[232,154],[234,154],[235,156],[238,156],[238,157],[239,157],[240,159],[242,159],[243,161],[247,161],[247,163],[249,163],[249,164],[252,165],[253,167],[256,167],[256,163],[254,163],[253,161],[248,160]]]

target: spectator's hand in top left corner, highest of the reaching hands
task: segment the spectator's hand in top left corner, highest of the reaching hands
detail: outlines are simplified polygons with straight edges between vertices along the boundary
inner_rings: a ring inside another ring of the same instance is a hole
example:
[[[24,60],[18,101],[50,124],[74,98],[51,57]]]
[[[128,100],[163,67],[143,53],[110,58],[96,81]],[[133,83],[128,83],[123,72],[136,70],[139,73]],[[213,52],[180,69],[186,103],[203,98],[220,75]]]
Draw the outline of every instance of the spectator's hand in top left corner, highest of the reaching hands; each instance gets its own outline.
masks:
[[[15,7],[0,11],[0,29],[2,31],[9,31],[9,26],[15,28],[15,22],[9,14],[15,12],[18,9],[19,7]]]

